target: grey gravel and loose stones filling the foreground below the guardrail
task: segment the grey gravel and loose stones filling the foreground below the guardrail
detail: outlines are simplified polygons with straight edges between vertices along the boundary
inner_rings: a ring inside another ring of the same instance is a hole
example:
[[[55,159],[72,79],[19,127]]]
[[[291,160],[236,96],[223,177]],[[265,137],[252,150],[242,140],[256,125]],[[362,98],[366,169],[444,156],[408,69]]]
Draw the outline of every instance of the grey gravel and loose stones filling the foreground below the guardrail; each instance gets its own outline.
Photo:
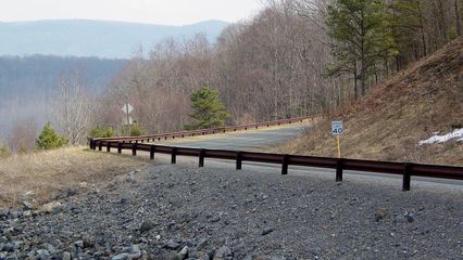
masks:
[[[0,259],[463,259],[462,188],[165,161],[0,209]]]

